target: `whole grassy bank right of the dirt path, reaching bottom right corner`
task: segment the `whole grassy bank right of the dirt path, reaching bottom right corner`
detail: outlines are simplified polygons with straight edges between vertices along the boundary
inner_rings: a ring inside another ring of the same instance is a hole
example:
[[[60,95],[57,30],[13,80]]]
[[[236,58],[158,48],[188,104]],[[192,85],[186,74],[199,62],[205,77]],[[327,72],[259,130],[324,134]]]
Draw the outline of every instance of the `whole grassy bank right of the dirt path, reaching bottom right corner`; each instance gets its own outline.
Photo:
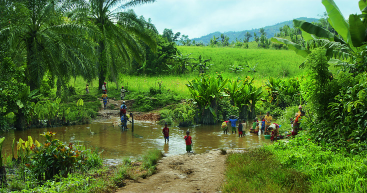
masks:
[[[332,152],[299,137],[229,154],[223,192],[364,193],[365,155]]]

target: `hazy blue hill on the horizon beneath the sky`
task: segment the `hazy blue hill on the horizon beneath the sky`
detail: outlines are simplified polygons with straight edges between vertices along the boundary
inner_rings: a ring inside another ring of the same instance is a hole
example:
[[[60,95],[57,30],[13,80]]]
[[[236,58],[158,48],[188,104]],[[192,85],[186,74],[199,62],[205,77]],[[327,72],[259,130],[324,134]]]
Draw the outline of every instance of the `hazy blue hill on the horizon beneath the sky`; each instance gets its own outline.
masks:
[[[307,22],[312,22],[312,21],[318,21],[317,18],[307,18],[307,17],[299,17],[296,18],[298,20],[304,20]],[[265,32],[267,34],[267,38],[273,37],[275,33],[279,33],[279,27],[282,27],[284,25],[289,25],[289,26],[293,26],[292,20],[289,21],[284,21],[281,23],[277,23],[275,25],[271,25],[271,26],[266,26],[264,27]],[[238,39],[242,39],[244,37],[244,34],[249,31],[252,35],[252,37],[250,38],[250,41],[253,41],[253,32],[256,32],[258,36],[260,36],[260,33],[258,32],[259,29],[249,29],[249,30],[244,30],[244,31],[227,31],[227,32],[223,32],[224,35],[227,35],[229,37],[229,42],[231,42],[232,40],[235,40],[235,38],[237,37]],[[220,37],[221,32],[216,31],[213,33],[209,33],[207,35],[198,37],[198,38],[192,38],[191,40],[195,40],[196,42],[203,42],[204,44],[209,43],[210,38],[213,38],[213,36],[215,35],[216,37]]]

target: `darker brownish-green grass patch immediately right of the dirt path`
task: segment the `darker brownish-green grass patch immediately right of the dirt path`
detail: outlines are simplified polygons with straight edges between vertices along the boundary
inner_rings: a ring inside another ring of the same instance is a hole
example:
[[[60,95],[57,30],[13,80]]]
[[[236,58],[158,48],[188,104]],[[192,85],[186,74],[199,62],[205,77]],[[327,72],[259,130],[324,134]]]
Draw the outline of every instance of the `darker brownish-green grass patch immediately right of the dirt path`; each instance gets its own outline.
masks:
[[[308,192],[307,176],[282,167],[273,152],[259,148],[228,154],[225,193],[301,193]]]

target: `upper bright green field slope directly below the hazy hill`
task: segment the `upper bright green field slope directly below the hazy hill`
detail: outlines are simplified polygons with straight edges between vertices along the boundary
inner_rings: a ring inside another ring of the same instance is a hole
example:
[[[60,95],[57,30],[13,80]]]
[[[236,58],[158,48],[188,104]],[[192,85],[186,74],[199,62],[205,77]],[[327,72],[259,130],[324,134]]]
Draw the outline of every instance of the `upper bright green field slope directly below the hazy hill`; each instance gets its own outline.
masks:
[[[211,59],[209,63],[214,63],[210,67],[210,72],[221,72],[228,76],[256,76],[265,79],[273,77],[293,77],[303,73],[303,69],[298,66],[304,58],[290,50],[271,50],[271,49],[242,49],[230,47],[197,47],[197,46],[178,46],[182,53],[192,53],[190,57]],[[241,73],[230,73],[230,65],[234,62],[244,68]],[[247,72],[249,69],[243,64],[249,62],[250,66],[258,63],[257,72]]]

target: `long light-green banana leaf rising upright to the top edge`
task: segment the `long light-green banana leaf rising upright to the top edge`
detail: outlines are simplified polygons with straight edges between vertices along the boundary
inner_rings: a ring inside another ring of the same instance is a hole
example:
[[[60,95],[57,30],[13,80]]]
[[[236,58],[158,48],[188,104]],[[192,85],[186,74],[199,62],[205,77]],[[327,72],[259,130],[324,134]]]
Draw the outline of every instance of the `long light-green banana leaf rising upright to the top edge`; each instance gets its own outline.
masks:
[[[344,39],[346,43],[351,42],[350,33],[349,33],[349,24],[344,19],[341,11],[336,6],[333,0],[321,0],[322,4],[325,6],[327,15],[329,16],[327,20],[330,25],[337,31],[339,35]]]

